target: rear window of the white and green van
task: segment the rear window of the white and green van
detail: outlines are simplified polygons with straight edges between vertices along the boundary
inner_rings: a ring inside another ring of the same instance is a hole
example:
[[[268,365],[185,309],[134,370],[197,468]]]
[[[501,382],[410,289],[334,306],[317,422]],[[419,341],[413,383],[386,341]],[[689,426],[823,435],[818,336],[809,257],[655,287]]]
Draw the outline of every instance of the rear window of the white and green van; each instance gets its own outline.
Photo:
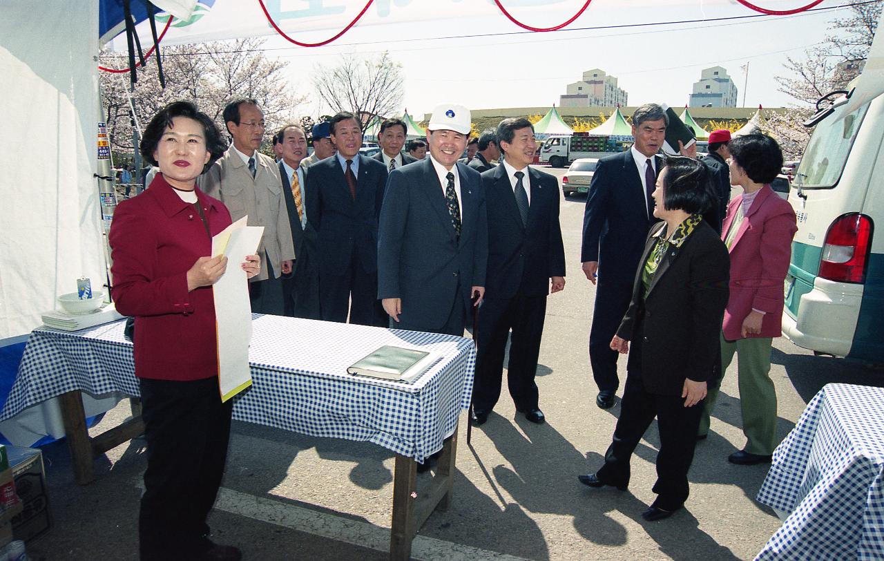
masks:
[[[847,157],[857,138],[859,126],[863,122],[869,105],[857,107],[843,119],[833,115],[823,119],[813,131],[801,164],[795,172],[792,185],[801,188],[831,188],[841,179]]]

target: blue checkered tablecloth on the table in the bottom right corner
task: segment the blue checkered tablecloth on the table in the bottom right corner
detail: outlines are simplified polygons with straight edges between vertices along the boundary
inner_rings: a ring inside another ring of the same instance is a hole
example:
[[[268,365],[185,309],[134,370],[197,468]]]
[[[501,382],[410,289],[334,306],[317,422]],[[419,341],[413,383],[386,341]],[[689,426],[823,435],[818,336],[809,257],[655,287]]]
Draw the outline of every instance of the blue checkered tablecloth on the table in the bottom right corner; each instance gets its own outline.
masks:
[[[884,388],[828,384],[773,452],[758,502],[789,512],[756,559],[884,559]]]

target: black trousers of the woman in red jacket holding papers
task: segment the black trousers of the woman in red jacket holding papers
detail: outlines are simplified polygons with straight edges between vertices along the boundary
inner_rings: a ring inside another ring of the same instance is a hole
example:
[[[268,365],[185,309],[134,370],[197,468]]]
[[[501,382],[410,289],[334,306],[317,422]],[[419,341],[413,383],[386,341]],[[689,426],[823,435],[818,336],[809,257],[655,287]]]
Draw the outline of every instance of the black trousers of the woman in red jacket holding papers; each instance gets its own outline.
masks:
[[[148,442],[141,559],[192,559],[211,545],[206,518],[224,476],[232,401],[221,403],[217,378],[139,381]]]

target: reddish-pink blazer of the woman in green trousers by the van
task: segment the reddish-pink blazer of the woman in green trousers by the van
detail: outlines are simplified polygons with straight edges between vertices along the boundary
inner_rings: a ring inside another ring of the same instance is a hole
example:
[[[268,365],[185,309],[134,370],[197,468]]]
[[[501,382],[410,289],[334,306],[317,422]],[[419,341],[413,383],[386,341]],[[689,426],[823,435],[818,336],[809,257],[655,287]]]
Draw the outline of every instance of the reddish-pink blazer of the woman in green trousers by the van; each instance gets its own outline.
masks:
[[[728,204],[728,218],[721,227],[727,240],[730,223],[743,204],[743,195]],[[752,309],[765,311],[761,333],[753,337],[779,337],[783,306],[783,281],[789,272],[792,237],[796,226],[792,206],[777,196],[769,185],[758,191],[730,253],[730,297],[724,312],[722,331],[728,341],[742,339],[743,319]]]

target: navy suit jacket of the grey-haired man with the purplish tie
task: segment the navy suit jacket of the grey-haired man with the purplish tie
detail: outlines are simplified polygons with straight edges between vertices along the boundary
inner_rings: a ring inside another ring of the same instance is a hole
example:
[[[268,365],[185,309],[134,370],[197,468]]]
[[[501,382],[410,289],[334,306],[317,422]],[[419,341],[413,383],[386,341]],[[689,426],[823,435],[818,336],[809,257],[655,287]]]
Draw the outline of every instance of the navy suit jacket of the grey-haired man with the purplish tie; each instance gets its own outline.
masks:
[[[655,156],[659,173],[663,158]],[[631,286],[654,222],[632,151],[598,160],[583,212],[580,260],[598,261],[598,280]]]

